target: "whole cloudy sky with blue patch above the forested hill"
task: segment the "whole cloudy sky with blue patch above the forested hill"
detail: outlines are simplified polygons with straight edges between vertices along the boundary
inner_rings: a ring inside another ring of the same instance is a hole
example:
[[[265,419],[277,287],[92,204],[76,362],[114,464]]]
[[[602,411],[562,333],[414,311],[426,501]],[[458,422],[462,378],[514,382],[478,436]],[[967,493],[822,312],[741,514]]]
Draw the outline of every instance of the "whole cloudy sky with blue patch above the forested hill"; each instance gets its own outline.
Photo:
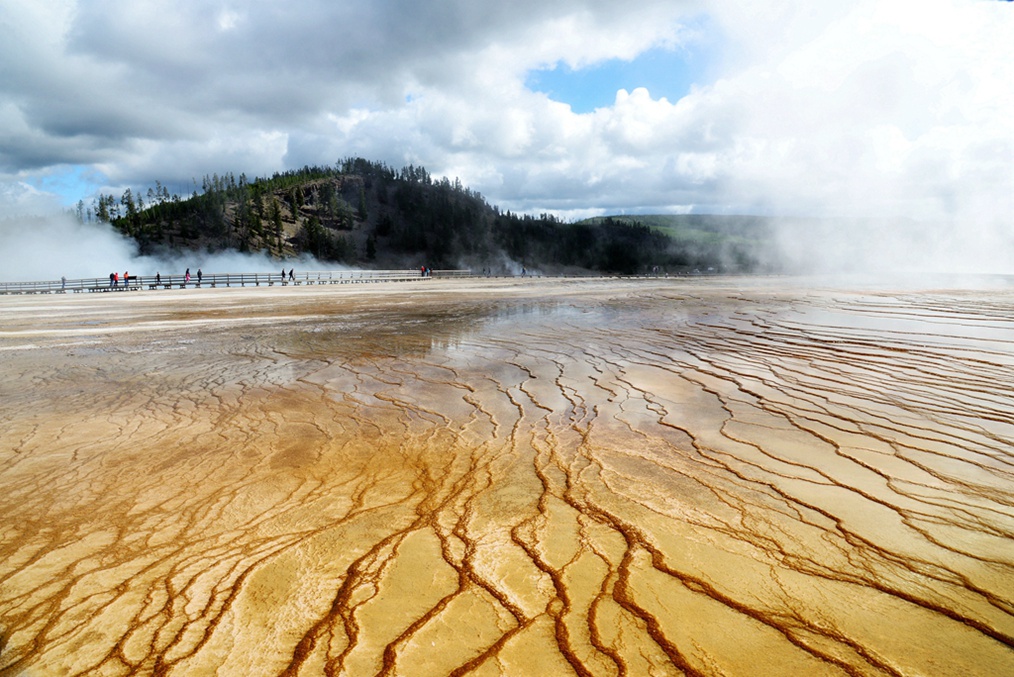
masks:
[[[362,156],[564,219],[961,224],[1004,268],[1012,35],[1001,0],[2,0],[0,238]]]

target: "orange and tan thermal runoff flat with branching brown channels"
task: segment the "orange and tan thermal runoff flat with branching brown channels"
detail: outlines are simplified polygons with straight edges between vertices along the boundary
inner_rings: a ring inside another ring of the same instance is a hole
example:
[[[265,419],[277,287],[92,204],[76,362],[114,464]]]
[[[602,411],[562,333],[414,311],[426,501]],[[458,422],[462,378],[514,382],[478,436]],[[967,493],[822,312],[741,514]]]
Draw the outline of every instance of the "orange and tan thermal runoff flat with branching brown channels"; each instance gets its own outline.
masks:
[[[0,675],[1014,674],[1014,288],[0,316]]]

